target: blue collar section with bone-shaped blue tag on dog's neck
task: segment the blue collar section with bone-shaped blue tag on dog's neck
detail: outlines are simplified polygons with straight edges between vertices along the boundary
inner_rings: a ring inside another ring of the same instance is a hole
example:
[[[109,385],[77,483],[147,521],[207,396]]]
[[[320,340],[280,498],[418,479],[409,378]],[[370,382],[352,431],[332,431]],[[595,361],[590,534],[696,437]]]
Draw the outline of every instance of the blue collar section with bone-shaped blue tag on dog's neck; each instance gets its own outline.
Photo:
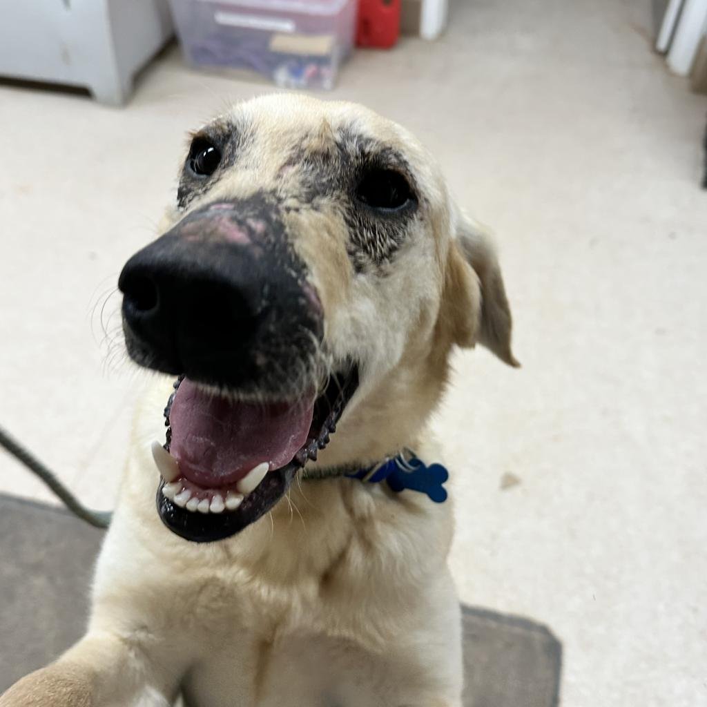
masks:
[[[407,459],[404,456],[407,454]],[[399,493],[404,489],[426,493],[431,501],[444,503],[447,500],[447,490],[443,486],[449,479],[449,472],[442,464],[426,466],[414,452],[404,450],[395,457],[374,464],[372,467],[358,469],[356,472],[344,474],[349,479],[358,479],[364,484],[380,484],[381,481],[390,486],[392,491]]]

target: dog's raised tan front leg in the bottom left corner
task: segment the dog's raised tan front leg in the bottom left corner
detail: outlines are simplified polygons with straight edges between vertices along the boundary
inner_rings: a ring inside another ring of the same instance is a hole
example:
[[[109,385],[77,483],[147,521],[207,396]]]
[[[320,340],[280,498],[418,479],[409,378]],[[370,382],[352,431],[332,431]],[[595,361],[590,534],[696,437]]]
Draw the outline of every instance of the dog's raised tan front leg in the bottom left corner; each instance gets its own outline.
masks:
[[[141,641],[88,633],[59,660],[0,696],[0,707],[168,707],[178,677]]]

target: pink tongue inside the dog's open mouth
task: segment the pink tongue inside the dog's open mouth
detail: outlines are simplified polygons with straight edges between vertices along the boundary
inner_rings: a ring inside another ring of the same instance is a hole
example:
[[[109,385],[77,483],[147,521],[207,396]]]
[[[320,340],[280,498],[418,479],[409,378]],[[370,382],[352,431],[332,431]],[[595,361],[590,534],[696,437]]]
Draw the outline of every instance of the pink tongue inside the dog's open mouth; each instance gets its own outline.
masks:
[[[268,462],[279,469],[307,440],[314,404],[233,402],[185,378],[170,409],[170,454],[189,481],[226,486]]]

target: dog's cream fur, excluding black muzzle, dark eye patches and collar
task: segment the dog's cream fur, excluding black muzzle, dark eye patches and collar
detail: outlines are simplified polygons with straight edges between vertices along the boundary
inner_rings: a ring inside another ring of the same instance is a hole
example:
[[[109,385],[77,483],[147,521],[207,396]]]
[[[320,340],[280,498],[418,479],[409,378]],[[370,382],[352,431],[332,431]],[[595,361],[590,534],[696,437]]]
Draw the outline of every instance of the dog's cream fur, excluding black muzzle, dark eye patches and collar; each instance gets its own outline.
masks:
[[[230,117],[250,126],[250,144],[189,209],[259,189],[289,189],[296,200],[288,152],[332,149],[344,126],[407,158],[421,215],[385,276],[354,275],[337,204],[301,209],[288,231],[320,294],[332,363],[361,363],[361,387],[318,464],[378,460],[402,445],[440,460],[423,428],[452,346],[481,341],[515,364],[483,231],[457,211],[414,138],[360,106],[276,95]],[[170,210],[164,228],[183,215]],[[159,378],[141,400],[86,636],[0,706],[168,705],[183,689],[199,707],[459,707],[460,612],[446,564],[452,502],[349,479],[298,480],[240,534],[191,544],[155,509],[148,446],[163,438],[169,392]]]

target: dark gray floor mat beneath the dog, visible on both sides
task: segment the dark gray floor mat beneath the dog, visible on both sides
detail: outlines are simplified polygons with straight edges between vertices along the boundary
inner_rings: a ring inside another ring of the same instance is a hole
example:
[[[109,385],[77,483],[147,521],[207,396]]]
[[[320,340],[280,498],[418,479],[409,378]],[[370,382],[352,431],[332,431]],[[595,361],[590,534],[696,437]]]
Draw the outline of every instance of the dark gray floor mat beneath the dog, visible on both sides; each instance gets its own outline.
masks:
[[[0,494],[0,693],[83,633],[103,533]],[[464,707],[556,707],[561,644],[544,626],[464,607]]]

